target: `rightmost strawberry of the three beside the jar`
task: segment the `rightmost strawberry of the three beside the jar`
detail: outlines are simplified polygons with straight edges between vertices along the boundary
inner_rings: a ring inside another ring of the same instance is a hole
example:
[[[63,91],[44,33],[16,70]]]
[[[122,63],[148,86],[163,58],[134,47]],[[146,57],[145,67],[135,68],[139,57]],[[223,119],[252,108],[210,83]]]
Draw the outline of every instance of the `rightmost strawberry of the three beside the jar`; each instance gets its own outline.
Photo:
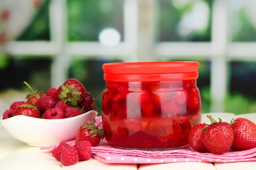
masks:
[[[233,121],[233,119],[232,119]],[[230,125],[234,131],[233,150],[247,150],[256,147],[256,125],[245,118],[237,118]]]

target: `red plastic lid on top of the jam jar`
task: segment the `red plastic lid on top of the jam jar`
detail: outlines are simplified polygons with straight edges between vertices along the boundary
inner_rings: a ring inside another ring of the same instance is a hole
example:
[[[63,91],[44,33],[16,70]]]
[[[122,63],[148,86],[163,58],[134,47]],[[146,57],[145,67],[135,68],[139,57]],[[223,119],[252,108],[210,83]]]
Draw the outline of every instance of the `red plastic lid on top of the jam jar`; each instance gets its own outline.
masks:
[[[199,62],[115,62],[102,65],[106,81],[168,81],[198,78]]]

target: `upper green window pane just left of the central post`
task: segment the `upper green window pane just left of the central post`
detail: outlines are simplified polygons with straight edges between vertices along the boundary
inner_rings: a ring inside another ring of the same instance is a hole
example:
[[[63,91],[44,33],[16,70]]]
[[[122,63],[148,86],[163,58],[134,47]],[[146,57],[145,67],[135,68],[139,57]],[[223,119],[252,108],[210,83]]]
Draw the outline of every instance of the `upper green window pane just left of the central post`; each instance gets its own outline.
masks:
[[[123,0],[67,0],[68,40],[98,41],[104,28],[123,37]]]

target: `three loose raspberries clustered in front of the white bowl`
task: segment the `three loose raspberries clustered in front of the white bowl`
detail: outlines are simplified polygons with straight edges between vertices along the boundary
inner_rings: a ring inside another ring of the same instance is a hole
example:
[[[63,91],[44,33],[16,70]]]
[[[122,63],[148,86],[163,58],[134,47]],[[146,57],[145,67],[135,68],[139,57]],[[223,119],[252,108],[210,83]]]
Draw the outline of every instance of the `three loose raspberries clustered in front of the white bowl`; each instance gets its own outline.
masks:
[[[52,150],[52,156],[64,166],[70,166],[78,161],[90,159],[93,156],[90,147],[91,144],[87,141],[78,142],[73,147],[66,142],[60,142],[58,147]]]

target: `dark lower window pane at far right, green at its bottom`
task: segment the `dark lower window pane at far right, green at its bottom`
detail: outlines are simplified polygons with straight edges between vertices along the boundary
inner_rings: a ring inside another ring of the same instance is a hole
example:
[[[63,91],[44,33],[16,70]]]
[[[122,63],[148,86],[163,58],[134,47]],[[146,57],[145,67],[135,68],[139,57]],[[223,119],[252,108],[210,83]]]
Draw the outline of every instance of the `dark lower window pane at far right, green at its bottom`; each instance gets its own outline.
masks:
[[[225,111],[236,114],[256,112],[256,62],[231,62],[230,72],[230,94]]]

